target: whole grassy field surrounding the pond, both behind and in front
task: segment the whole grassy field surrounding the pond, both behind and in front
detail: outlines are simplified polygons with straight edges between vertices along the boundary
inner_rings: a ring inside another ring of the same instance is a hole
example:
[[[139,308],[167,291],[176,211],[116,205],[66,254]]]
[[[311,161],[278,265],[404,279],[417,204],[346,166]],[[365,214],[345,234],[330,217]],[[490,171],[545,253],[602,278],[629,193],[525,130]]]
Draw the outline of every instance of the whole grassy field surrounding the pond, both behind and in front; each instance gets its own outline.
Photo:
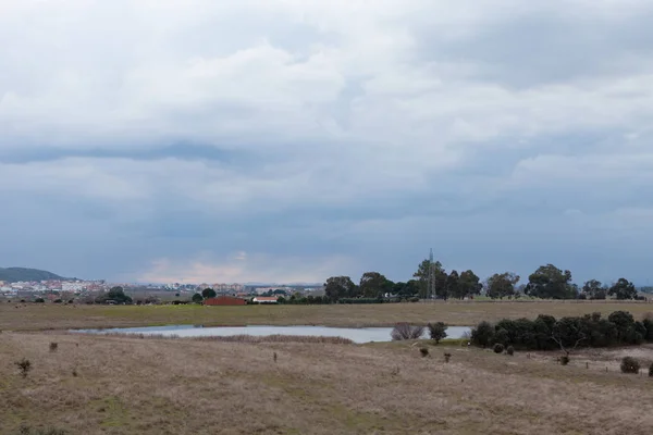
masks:
[[[563,366],[559,352],[508,357],[460,343],[226,343],[61,331],[161,323],[466,325],[617,309],[637,318],[653,311],[646,303],[566,302],[8,304],[0,308],[0,434],[651,434],[653,346],[578,351]],[[36,331],[47,328],[53,331]],[[619,373],[624,356],[638,358],[642,373]],[[32,363],[26,377],[15,364],[23,358]]]

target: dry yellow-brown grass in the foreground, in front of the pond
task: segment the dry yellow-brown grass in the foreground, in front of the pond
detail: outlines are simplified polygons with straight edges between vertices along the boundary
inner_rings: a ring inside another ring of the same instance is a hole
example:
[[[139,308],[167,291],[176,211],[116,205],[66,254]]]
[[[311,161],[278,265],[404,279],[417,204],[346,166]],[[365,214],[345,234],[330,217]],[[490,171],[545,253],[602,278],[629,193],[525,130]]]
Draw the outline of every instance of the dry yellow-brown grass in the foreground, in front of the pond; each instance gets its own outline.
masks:
[[[445,364],[443,351],[3,333],[0,433],[22,423],[89,435],[653,431],[648,377],[468,348],[447,348]],[[23,357],[27,378],[13,365]]]

